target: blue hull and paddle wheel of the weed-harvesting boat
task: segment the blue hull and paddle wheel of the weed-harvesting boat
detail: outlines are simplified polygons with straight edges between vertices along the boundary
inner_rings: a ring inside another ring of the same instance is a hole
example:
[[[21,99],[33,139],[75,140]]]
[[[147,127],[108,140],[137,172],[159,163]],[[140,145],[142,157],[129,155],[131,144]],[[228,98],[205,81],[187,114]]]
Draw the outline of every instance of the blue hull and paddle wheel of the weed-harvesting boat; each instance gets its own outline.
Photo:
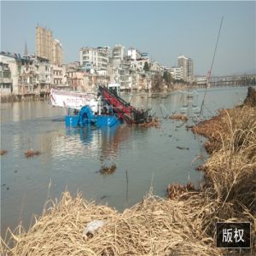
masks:
[[[96,125],[97,128],[100,128],[102,126],[111,127],[113,125],[118,125],[120,120],[114,114],[96,115],[93,113],[90,106],[86,105],[82,107],[80,111],[74,110],[73,114],[71,113],[71,108],[68,108],[65,123],[67,126],[73,127]]]

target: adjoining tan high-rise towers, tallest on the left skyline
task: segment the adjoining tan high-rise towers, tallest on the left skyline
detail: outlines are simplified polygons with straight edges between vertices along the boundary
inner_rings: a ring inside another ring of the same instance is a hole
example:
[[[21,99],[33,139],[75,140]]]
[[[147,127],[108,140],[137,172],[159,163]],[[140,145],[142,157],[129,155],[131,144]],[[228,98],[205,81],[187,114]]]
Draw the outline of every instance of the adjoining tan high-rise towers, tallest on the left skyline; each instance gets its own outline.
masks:
[[[46,58],[50,63],[61,65],[63,63],[63,50],[59,40],[52,36],[52,32],[42,26],[36,28],[37,55]]]

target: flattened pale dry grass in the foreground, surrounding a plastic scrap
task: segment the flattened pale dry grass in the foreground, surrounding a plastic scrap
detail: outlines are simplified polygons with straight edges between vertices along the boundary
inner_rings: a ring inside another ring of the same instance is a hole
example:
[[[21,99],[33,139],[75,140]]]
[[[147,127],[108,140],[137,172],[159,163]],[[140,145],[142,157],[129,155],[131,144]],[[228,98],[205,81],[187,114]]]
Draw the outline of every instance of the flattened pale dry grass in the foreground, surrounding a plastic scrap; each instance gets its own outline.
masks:
[[[186,201],[164,200],[148,194],[141,203],[119,213],[65,192],[59,203],[27,233],[11,233],[2,253],[9,255],[220,255],[211,237],[201,235],[201,221]],[[106,223],[92,237],[84,228],[92,220]],[[10,230],[9,230],[10,232]],[[14,243],[14,247],[9,244]]]

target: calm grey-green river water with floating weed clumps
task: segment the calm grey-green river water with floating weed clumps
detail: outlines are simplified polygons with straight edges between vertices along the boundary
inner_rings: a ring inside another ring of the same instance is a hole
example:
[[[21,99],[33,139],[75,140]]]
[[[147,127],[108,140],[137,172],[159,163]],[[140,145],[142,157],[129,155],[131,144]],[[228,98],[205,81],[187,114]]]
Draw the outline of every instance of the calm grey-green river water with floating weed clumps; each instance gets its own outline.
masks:
[[[179,91],[166,98],[125,96],[132,105],[152,108],[160,119],[159,129],[127,125],[70,129],[65,127],[64,109],[48,102],[2,103],[1,149],[8,150],[1,156],[2,235],[20,221],[27,229],[32,215],[42,213],[45,201],[60,198],[66,189],[123,211],[141,201],[151,186],[160,196],[165,196],[169,183],[191,181],[199,186],[203,174],[195,167],[207,158],[205,138],[195,137],[183,122],[163,117],[180,111],[196,115],[204,93],[196,90],[193,103]],[[208,89],[201,118],[233,107],[246,95],[247,88],[242,87]],[[41,154],[27,159],[28,149]],[[117,170],[112,175],[98,172],[113,163]]]

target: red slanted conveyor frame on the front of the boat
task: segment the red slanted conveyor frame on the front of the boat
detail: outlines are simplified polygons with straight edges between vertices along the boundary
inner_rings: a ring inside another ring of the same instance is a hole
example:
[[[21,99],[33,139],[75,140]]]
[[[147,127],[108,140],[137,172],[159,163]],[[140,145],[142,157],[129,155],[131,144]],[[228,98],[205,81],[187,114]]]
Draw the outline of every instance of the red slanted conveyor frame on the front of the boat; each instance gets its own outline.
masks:
[[[114,90],[110,90],[107,87],[99,86],[99,90],[102,99],[110,108],[113,108],[113,112],[119,119],[123,119],[125,123],[129,125],[142,124],[148,120],[148,110],[146,112],[137,110],[137,108],[132,107],[130,103],[119,97]]]

